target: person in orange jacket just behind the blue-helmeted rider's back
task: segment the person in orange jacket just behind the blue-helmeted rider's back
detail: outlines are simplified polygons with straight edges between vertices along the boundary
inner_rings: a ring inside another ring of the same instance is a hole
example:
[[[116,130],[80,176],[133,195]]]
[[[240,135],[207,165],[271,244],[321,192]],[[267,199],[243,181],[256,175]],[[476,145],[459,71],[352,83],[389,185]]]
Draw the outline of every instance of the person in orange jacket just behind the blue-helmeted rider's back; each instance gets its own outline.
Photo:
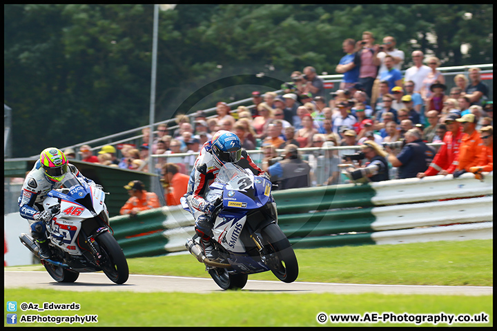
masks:
[[[180,205],[179,199],[186,194],[190,177],[179,172],[175,163],[162,165],[162,186],[164,187],[164,198],[167,205]]]

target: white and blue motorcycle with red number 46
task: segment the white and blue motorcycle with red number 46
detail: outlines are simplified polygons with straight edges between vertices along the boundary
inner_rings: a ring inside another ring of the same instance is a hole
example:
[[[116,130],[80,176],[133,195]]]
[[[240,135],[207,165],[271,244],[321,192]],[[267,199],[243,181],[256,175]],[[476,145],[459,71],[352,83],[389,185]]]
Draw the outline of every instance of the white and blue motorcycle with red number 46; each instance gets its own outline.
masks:
[[[128,262],[109,232],[105,192],[80,181],[72,172],[62,180],[64,188],[51,190],[43,209],[52,212],[46,222],[52,258],[41,259],[48,274],[59,283],[73,283],[79,272],[104,271],[117,284],[128,280]],[[39,257],[39,246],[29,234],[19,234],[21,243]]]

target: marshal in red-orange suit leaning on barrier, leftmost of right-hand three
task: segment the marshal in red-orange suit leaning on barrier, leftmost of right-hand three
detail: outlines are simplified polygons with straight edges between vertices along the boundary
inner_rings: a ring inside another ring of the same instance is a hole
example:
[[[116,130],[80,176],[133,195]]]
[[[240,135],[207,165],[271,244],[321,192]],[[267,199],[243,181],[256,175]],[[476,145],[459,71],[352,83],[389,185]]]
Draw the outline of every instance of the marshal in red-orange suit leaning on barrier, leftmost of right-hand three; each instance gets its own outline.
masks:
[[[449,114],[445,118],[445,126],[447,126],[447,132],[445,137],[443,137],[443,145],[440,146],[440,150],[435,155],[435,158],[429,165],[425,172],[419,172],[416,177],[423,178],[426,176],[435,176],[437,174],[447,175],[451,174],[456,170],[458,165],[459,157],[459,146],[461,143],[462,128],[456,119],[459,116],[457,114]]]

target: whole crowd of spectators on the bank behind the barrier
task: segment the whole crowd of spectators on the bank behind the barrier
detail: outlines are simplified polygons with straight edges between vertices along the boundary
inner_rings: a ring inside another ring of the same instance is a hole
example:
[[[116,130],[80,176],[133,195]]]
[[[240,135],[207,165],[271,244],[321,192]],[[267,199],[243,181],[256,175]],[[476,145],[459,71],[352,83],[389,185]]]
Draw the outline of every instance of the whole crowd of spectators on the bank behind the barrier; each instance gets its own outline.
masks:
[[[252,157],[280,188],[382,181],[394,178],[392,168],[399,179],[464,172],[478,177],[493,170],[493,102],[480,69],[470,68],[468,77],[457,74],[455,87],[447,90],[440,59],[419,50],[408,59],[394,37],[375,40],[366,31],[358,41],[343,41],[345,54],[335,68],[343,79],[331,95],[308,66],[291,72],[281,95],[254,91],[251,104],[236,109],[220,101],[213,117],[197,111],[193,117],[178,115],[172,128],[159,124],[153,141],[144,128],[139,146],[119,145],[119,159],[110,145],[97,155],[81,146],[81,159],[148,172],[149,148],[167,155],[157,158],[153,171],[162,176],[168,204],[179,204],[195,153],[217,130],[237,134],[246,150],[261,150]],[[409,60],[412,66],[402,73]],[[75,150],[64,152],[75,158]],[[308,177],[284,181],[289,169]]]

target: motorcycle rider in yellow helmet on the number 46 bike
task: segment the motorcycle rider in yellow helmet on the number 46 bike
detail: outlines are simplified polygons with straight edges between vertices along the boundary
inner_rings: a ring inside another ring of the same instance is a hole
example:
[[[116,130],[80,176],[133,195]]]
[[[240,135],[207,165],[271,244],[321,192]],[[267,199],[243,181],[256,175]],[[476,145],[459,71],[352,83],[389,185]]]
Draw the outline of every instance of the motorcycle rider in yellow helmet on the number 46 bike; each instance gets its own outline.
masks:
[[[41,259],[50,259],[52,255],[46,238],[46,222],[52,219],[52,212],[43,210],[43,201],[50,190],[62,187],[61,181],[68,172],[84,179],[90,185],[101,188],[91,179],[84,177],[75,165],[70,164],[61,150],[50,147],[41,152],[40,159],[26,176],[21,196],[17,199],[19,214],[31,225],[31,235],[39,245]]]

